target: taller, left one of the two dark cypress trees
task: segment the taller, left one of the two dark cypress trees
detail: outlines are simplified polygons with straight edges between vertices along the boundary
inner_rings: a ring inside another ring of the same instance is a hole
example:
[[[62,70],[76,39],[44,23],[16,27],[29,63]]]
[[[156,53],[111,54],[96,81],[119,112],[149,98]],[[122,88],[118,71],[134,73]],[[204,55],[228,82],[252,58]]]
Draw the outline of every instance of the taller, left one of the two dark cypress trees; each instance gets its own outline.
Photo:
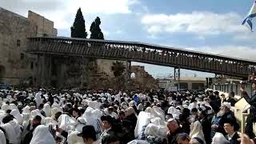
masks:
[[[86,38],[86,25],[85,19],[82,16],[81,8],[78,9],[77,14],[74,18],[73,26],[71,26],[71,37],[72,38]]]

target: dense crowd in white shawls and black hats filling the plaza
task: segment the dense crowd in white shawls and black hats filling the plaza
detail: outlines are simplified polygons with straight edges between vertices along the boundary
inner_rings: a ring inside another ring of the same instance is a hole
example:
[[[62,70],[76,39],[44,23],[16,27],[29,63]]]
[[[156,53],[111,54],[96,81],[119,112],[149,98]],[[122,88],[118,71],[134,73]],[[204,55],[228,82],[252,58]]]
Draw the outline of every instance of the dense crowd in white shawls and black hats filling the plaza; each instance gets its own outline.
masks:
[[[2,90],[0,144],[254,143],[256,98],[242,92],[251,105],[246,134],[234,93]]]

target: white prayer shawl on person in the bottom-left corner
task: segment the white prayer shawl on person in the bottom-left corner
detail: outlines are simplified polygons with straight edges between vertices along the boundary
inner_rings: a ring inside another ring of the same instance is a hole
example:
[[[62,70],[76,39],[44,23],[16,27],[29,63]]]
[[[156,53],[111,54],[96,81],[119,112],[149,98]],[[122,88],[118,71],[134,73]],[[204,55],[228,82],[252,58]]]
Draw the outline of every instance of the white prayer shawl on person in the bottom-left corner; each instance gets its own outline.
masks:
[[[6,123],[2,125],[2,128],[6,130],[7,139],[9,139],[10,143],[18,144],[18,137],[15,134],[14,126],[10,123]]]

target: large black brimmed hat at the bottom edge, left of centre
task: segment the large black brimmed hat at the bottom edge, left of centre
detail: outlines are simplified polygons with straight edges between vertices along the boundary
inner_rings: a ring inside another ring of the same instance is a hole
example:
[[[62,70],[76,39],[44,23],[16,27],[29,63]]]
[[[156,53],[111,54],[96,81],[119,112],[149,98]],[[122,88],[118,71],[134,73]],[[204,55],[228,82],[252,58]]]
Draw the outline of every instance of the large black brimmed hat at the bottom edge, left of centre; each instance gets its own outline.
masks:
[[[94,126],[83,126],[82,127],[82,133],[78,134],[78,137],[82,138],[92,138],[94,141],[97,140],[96,138],[96,131],[94,129]]]

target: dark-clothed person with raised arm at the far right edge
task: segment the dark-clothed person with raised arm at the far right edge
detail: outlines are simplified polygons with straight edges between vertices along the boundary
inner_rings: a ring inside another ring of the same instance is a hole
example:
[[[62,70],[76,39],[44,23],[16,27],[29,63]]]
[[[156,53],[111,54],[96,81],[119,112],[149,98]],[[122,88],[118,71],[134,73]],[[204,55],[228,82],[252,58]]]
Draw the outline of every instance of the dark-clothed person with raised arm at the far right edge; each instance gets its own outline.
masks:
[[[250,138],[254,138],[255,134],[253,132],[253,123],[256,122],[256,81],[255,78],[251,78],[253,94],[251,97],[247,94],[243,87],[240,89],[242,92],[242,97],[246,99],[246,102],[250,104],[250,114],[246,118],[246,128],[245,133],[248,134]]]

